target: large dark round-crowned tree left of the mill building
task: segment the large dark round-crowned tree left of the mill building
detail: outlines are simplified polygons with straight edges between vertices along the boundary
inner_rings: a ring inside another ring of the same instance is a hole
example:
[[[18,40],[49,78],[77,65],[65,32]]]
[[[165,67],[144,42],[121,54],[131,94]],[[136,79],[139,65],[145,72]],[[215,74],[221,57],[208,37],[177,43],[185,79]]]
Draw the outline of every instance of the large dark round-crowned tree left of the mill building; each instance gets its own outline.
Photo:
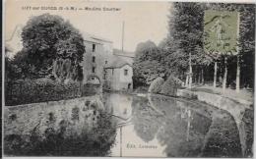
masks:
[[[53,75],[55,79],[65,80],[71,77],[56,73],[59,70],[63,71],[62,67],[69,66],[67,72],[81,70],[80,62],[85,52],[83,37],[76,28],[61,17],[49,14],[32,17],[23,28],[22,39],[24,49],[21,54],[26,54],[28,64],[34,68],[31,73],[34,78]],[[69,64],[63,66],[63,63],[56,61]],[[72,79],[75,79],[74,77],[75,75]]]

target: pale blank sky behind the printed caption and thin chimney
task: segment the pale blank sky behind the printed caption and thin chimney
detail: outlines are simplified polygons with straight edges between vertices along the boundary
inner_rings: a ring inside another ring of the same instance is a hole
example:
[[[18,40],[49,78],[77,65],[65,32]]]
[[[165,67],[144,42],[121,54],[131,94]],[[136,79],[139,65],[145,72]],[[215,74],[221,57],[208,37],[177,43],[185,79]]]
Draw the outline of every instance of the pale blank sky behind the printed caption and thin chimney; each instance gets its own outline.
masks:
[[[5,8],[5,39],[9,39],[17,25],[25,26],[32,16],[44,13],[59,15],[78,28],[113,41],[121,49],[124,22],[124,50],[135,51],[140,42],[152,40],[156,44],[166,36],[169,2],[113,2],[83,0],[8,0]],[[58,10],[48,10],[56,7]],[[74,7],[77,11],[59,10]],[[97,8],[96,11],[85,10]],[[83,10],[79,10],[79,8]],[[103,11],[115,8],[115,11]],[[45,10],[47,9],[47,10]],[[100,11],[98,11],[101,9]]]

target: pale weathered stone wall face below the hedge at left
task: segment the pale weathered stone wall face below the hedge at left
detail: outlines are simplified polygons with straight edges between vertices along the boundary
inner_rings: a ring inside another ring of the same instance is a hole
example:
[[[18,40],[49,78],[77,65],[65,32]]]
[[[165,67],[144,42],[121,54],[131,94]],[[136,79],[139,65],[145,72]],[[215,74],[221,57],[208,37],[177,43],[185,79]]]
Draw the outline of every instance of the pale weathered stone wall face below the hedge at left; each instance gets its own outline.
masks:
[[[39,133],[47,128],[58,130],[63,123],[68,123],[69,133],[90,131],[96,124],[97,110],[104,107],[99,96],[92,96],[4,109],[4,134],[8,135],[30,134],[35,128]]]

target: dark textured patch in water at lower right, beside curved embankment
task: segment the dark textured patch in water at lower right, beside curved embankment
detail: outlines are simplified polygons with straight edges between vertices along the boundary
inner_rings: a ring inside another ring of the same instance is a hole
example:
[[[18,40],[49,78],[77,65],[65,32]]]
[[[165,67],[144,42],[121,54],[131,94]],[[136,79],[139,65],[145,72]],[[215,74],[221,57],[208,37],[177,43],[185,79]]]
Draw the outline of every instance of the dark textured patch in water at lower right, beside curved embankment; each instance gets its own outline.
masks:
[[[232,118],[228,114],[213,115],[202,156],[242,157],[239,131]]]

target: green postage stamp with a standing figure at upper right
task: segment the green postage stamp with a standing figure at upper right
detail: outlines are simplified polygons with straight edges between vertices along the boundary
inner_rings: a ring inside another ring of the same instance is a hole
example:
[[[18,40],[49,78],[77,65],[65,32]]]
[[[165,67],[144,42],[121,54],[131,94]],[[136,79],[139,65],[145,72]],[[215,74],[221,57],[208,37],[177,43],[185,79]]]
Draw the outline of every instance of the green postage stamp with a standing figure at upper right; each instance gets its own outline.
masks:
[[[237,54],[238,24],[239,14],[236,11],[205,11],[205,51],[212,54]]]

